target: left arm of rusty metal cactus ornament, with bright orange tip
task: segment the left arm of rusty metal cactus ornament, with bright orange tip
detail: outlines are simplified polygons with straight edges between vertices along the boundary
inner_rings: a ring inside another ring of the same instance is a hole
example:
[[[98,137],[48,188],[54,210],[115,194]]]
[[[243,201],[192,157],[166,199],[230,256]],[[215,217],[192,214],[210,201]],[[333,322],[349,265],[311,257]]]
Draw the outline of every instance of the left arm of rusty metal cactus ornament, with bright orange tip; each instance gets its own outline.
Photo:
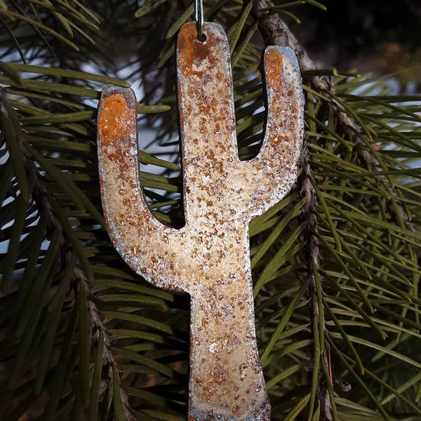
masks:
[[[97,125],[102,205],[116,250],[147,281],[163,288],[185,290],[180,282],[175,286],[176,268],[171,265],[174,253],[183,248],[180,232],[156,220],[140,185],[133,91],[105,88]]]

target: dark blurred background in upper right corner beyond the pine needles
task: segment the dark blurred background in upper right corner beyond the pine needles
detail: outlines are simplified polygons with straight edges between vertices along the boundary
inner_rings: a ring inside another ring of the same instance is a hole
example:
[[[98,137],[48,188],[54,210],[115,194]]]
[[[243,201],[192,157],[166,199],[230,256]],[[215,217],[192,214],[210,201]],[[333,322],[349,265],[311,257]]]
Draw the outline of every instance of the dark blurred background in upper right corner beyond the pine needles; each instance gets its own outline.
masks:
[[[421,82],[420,0],[320,2],[326,11],[301,6],[295,9],[300,24],[288,22],[318,67],[400,72],[402,83]]]

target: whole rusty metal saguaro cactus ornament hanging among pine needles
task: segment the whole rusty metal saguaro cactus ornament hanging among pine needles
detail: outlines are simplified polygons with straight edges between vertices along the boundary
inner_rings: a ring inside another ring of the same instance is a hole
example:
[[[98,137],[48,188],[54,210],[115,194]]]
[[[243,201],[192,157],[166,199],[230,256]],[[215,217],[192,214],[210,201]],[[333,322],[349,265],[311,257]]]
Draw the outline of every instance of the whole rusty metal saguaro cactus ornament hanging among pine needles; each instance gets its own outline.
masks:
[[[240,161],[229,45],[205,22],[178,37],[178,106],[185,226],[149,211],[140,186],[135,96],[105,88],[98,112],[102,203],[114,246],[156,286],[191,296],[190,421],[269,420],[255,339],[248,223],[297,176],[302,91],[293,53],[265,52],[267,123],[258,156]]]

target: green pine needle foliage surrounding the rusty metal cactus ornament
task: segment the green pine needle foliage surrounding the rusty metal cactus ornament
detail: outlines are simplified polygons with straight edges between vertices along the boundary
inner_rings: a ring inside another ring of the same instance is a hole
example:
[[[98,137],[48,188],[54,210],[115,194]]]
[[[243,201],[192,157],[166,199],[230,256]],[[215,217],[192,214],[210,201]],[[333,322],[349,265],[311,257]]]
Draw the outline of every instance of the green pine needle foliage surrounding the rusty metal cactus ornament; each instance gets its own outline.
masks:
[[[265,119],[262,13],[323,8],[257,4],[205,2],[229,37],[243,158]],[[103,86],[129,86],[126,67],[145,88],[140,125],[166,156],[140,151],[145,192],[180,225],[178,158],[165,154],[178,133],[175,36],[192,11],[0,0],[2,420],[185,419],[189,301],[147,284],[109,243],[95,116]],[[300,178],[250,224],[272,420],[420,420],[420,97],[389,95],[387,78],[302,76]]]

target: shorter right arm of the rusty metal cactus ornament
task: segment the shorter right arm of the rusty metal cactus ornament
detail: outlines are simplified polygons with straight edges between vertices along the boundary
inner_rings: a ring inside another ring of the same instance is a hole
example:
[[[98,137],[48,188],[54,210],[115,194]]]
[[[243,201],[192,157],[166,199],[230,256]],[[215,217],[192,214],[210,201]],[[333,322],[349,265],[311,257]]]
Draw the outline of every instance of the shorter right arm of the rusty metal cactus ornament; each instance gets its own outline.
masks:
[[[265,86],[265,138],[258,156],[242,161],[236,174],[237,178],[253,183],[248,191],[253,200],[246,196],[245,201],[250,203],[250,213],[254,216],[283,199],[297,179],[304,106],[300,69],[289,48],[266,49]]]

